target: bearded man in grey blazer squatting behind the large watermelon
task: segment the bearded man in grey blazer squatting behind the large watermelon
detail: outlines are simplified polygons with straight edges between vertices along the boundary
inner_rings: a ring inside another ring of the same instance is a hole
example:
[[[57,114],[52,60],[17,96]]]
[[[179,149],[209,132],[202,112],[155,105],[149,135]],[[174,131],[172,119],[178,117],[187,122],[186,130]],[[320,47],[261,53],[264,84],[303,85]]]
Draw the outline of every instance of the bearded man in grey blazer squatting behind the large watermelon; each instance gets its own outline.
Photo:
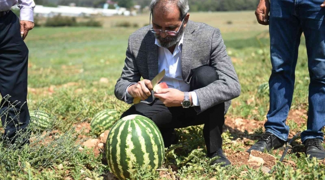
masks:
[[[127,103],[134,97],[142,99],[121,117],[150,118],[159,127],[165,147],[178,141],[174,128],[204,124],[207,156],[219,157],[212,164],[229,165],[221,148],[222,125],[230,100],[240,94],[240,84],[220,30],[188,20],[188,10],[187,0],[151,1],[152,27],[129,36],[114,93]],[[170,88],[157,90],[153,97],[149,79],[163,69],[161,82]]]

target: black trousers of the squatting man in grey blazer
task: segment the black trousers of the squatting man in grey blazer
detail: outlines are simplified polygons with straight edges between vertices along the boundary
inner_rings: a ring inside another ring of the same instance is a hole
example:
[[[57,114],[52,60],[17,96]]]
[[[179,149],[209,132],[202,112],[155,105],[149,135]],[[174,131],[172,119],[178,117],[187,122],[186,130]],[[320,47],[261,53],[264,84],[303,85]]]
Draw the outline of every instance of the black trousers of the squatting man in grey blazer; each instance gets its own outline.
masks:
[[[191,77],[190,91],[204,87],[215,80],[217,80],[217,74],[213,67],[199,67]],[[217,104],[197,114],[193,107],[166,107],[159,99],[155,99],[151,104],[133,104],[121,117],[130,114],[140,114],[154,121],[162,134],[165,147],[169,147],[174,140],[174,128],[204,124],[203,136],[207,152],[212,153],[221,148],[224,103]]]

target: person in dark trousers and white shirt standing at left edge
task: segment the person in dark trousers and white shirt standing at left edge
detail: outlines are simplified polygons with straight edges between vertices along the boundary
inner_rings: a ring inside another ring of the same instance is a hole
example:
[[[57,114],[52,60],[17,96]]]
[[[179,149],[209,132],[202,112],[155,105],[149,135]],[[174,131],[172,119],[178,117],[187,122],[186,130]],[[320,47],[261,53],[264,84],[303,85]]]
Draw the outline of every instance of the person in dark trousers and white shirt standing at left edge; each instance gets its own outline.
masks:
[[[20,21],[10,10],[17,3]],[[26,103],[28,48],[23,40],[34,26],[34,6],[33,0],[0,0],[0,93],[2,97],[10,96],[1,99],[0,114],[2,126],[5,121],[7,123],[4,135],[11,143],[15,142],[16,132],[24,130],[29,123]],[[26,142],[28,138],[23,139],[23,143]]]

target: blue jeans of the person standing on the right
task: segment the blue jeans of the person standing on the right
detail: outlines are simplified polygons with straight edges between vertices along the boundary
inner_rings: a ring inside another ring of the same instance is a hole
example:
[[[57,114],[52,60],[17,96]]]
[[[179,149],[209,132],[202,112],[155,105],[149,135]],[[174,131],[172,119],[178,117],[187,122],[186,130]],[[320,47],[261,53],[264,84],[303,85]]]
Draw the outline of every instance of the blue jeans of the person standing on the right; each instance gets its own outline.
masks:
[[[270,0],[269,34],[272,73],[269,78],[269,111],[266,131],[287,140],[285,124],[291,106],[294,71],[301,33],[304,33],[310,76],[307,129],[301,141],[323,140],[325,125],[325,7],[323,0]]]

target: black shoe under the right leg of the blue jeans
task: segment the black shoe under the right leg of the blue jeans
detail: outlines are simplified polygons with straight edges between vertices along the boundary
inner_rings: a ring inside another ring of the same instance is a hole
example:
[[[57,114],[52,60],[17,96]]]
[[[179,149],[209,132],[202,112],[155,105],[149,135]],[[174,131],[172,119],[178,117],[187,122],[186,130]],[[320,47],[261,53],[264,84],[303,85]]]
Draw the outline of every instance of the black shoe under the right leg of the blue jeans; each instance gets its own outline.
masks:
[[[306,147],[306,156],[310,155],[309,158],[316,157],[317,159],[325,158],[325,150],[321,145],[321,140],[317,138],[306,139],[304,142]]]

